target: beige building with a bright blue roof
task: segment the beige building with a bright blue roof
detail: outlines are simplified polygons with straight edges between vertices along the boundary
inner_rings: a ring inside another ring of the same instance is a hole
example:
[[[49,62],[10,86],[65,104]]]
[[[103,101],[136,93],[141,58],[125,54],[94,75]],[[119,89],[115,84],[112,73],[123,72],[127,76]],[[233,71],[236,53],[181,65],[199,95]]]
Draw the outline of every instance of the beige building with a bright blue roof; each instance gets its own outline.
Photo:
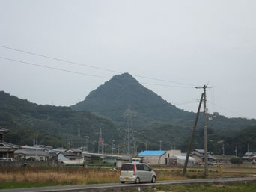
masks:
[[[171,156],[181,155],[180,150],[144,151],[137,155],[146,164],[171,164]]]

